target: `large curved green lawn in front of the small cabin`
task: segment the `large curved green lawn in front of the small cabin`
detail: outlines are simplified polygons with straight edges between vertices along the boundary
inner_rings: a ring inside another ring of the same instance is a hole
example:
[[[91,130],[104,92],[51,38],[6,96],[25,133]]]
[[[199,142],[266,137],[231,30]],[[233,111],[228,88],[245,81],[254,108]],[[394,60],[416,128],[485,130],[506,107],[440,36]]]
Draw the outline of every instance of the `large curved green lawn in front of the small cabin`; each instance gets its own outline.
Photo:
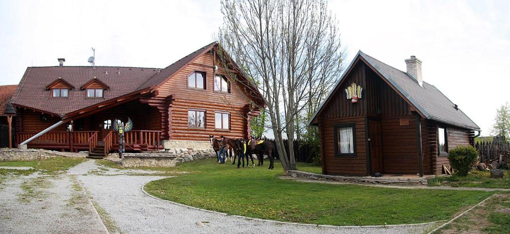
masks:
[[[172,170],[190,173],[151,181],[145,190],[163,199],[231,215],[312,224],[446,220],[493,194],[303,183],[279,179],[283,171],[279,163],[274,170],[266,166],[237,169],[212,159],[179,164]]]

